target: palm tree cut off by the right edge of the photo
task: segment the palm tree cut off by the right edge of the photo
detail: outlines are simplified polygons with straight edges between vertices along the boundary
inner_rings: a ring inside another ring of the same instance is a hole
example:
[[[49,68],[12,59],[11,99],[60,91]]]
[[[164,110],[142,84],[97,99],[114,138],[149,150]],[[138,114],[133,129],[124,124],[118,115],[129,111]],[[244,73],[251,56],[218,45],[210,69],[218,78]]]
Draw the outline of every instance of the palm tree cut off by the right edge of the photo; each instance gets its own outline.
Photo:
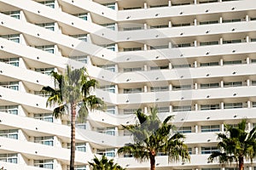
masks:
[[[219,152],[213,152],[208,161],[218,158],[220,163],[232,163],[236,161],[239,169],[244,168],[244,159],[253,162],[256,157],[256,127],[250,132],[246,131],[247,121],[241,120],[237,127],[225,124],[225,132],[218,133]]]

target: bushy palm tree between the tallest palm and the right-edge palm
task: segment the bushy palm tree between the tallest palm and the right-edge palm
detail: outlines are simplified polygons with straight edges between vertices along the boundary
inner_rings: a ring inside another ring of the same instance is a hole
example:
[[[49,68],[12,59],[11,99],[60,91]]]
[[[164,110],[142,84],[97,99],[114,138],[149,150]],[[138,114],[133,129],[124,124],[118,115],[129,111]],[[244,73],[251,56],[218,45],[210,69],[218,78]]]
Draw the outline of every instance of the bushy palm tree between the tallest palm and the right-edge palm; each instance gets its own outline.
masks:
[[[118,153],[132,154],[137,161],[150,161],[150,169],[155,169],[155,156],[163,153],[168,156],[168,161],[190,161],[187,145],[182,133],[172,134],[174,126],[168,123],[173,116],[167,116],[160,122],[157,109],[151,108],[151,114],[145,115],[136,111],[138,122],[135,125],[123,126],[132,134],[133,144],[119,148]]]

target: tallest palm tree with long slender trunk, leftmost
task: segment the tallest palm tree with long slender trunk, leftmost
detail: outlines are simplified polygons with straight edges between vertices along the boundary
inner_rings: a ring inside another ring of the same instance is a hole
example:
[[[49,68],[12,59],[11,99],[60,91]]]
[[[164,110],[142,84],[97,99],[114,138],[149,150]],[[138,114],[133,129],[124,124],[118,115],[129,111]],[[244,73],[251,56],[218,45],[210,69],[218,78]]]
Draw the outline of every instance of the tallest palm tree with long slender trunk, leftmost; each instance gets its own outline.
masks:
[[[55,71],[51,72],[54,78],[55,87],[44,87],[42,93],[49,96],[47,106],[55,106],[53,115],[55,118],[61,117],[63,114],[71,112],[71,156],[70,170],[74,169],[75,156],[75,122],[84,122],[88,112],[94,109],[102,109],[102,99],[91,95],[96,88],[96,80],[90,79],[85,68],[71,70],[67,66],[67,72],[63,76]],[[79,108],[77,114],[77,108]]]

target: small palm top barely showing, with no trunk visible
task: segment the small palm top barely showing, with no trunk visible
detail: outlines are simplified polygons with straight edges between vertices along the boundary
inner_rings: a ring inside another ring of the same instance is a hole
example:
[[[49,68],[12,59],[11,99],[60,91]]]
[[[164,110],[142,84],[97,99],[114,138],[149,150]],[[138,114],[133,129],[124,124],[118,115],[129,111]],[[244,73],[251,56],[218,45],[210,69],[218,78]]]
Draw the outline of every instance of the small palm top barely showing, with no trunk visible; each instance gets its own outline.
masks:
[[[125,170],[125,168],[120,167],[117,163],[113,163],[113,159],[108,160],[107,156],[102,156],[100,160],[94,156],[93,161],[94,162],[88,162],[92,170]]]

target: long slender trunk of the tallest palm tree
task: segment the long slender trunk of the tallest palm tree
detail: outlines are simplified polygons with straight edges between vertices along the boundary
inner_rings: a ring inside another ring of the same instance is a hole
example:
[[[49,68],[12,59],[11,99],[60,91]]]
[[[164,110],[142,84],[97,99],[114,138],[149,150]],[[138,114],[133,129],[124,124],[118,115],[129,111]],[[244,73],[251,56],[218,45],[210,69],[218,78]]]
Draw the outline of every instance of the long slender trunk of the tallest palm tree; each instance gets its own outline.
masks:
[[[76,105],[71,104],[71,152],[70,152],[70,170],[74,170],[74,158],[75,158],[75,134],[76,134]]]

